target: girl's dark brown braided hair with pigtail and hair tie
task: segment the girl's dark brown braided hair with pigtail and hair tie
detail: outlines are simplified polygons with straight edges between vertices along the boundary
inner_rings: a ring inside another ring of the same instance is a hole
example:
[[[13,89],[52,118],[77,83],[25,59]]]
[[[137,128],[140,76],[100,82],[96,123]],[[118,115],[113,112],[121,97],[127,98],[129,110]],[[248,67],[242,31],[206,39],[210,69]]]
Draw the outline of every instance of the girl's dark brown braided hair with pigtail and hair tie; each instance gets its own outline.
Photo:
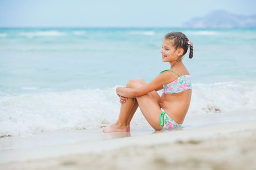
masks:
[[[193,57],[193,44],[191,41],[189,41],[188,37],[185,34],[183,34],[181,32],[171,32],[171,33],[166,34],[164,36],[164,38],[169,39],[169,40],[174,40],[175,49],[177,50],[178,48],[182,48],[184,50],[183,55],[185,55],[187,53],[188,46],[189,46],[189,58]],[[177,61],[179,61],[179,60],[177,60]]]

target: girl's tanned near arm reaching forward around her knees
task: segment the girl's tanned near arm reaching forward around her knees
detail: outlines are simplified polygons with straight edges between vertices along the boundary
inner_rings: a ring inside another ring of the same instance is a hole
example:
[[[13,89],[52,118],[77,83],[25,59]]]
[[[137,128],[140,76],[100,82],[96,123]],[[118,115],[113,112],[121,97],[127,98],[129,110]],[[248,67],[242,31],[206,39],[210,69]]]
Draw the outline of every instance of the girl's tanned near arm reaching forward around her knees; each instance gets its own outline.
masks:
[[[127,87],[117,87],[117,94],[124,97],[136,98],[143,96],[153,90],[159,90],[164,84],[167,84],[171,81],[170,77],[172,76],[171,71],[165,71],[149,82],[146,85],[143,85],[138,88],[127,88]]]

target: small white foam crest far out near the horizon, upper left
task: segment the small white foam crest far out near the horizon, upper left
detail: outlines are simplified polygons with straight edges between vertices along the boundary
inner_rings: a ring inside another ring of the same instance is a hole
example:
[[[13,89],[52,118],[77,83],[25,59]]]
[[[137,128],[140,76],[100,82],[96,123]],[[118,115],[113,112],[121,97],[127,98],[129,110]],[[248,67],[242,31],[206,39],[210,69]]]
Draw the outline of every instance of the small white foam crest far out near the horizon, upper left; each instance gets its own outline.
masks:
[[[26,36],[29,38],[33,38],[36,36],[63,36],[65,33],[59,31],[37,31],[37,32],[21,32],[20,36]]]

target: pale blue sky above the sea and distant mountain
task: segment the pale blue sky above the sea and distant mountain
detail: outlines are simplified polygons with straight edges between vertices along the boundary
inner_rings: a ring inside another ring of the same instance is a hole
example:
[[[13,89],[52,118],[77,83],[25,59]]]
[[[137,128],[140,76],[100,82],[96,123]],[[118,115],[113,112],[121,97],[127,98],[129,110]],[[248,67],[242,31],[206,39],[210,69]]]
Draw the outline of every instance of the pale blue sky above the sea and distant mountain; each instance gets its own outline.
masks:
[[[0,27],[179,27],[213,10],[256,15],[255,0],[0,0]]]

